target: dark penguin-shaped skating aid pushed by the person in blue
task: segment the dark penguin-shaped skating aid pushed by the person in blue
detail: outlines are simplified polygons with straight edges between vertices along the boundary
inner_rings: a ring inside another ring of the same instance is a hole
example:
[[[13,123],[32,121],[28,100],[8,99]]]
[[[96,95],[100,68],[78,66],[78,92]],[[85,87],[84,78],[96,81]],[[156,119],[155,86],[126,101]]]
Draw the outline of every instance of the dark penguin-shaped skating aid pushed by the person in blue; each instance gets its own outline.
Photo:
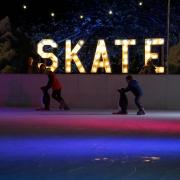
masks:
[[[118,112],[114,112],[113,114],[127,114],[127,106],[128,106],[128,99],[125,94],[125,89],[121,88],[118,89],[118,92],[120,93],[119,97],[119,107],[121,108]]]

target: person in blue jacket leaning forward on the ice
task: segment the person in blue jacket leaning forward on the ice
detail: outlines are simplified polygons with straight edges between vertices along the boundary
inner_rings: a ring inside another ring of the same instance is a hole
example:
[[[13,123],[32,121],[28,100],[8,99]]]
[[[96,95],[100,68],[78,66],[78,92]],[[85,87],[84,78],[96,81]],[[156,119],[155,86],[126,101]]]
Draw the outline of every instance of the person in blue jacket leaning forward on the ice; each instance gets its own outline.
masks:
[[[135,96],[135,104],[138,107],[137,115],[145,115],[144,108],[140,102],[141,97],[143,96],[142,88],[140,87],[138,81],[134,80],[132,76],[127,76],[126,81],[128,86],[125,88],[125,92],[131,91]]]

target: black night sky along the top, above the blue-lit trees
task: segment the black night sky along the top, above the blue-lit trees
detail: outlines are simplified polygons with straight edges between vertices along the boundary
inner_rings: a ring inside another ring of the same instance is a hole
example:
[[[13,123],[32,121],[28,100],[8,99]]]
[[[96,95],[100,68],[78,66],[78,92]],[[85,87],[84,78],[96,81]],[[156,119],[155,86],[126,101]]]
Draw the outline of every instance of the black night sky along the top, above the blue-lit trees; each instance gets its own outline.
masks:
[[[132,8],[132,4],[137,4],[141,11],[146,11],[155,6],[167,8],[168,0],[6,0],[0,6],[0,17],[11,17],[14,21],[26,19],[35,21],[37,19],[48,20],[51,13],[55,13],[56,19],[65,18],[69,14],[74,16],[88,15],[89,12],[97,9],[107,13],[112,9],[120,9],[122,6]],[[142,6],[140,3],[142,2]],[[172,0],[171,7],[176,7],[179,0]],[[26,6],[26,9],[23,6]]]

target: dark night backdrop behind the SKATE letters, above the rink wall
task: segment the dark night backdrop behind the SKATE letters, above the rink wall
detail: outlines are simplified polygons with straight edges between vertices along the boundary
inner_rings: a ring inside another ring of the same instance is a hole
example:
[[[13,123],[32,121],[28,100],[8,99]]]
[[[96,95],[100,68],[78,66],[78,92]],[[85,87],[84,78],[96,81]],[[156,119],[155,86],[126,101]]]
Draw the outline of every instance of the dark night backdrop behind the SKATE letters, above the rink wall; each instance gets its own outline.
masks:
[[[142,2],[142,6],[139,2]],[[22,73],[26,69],[26,59],[29,56],[33,56],[36,63],[42,61],[36,54],[36,44],[43,38],[52,38],[59,45],[59,49],[55,51],[60,65],[58,73],[64,72],[65,39],[71,39],[74,45],[79,39],[85,40],[86,44],[79,56],[85,68],[90,71],[97,40],[105,39],[113,72],[119,74],[121,48],[114,46],[114,40],[133,38],[137,39],[137,46],[131,47],[129,51],[130,73],[136,74],[144,63],[144,39],[160,37],[167,39],[167,2],[168,0],[4,1],[0,6],[0,18],[2,20],[7,16],[9,18],[8,23],[6,20],[6,23],[0,25],[0,29],[5,27],[5,24],[10,24],[10,31],[18,41],[14,43],[12,39],[8,40],[18,53],[15,57],[9,58],[12,61],[8,59],[1,63],[0,59],[0,69],[2,71],[6,65],[10,65],[15,67],[15,72]],[[23,9],[23,5],[26,5],[27,9]],[[110,10],[112,14],[109,14]],[[51,16],[52,12],[55,13],[55,17]],[[83,18],[81,19],[80,16]],[[180,3],[178,0],[171,0],[170,46],[177,45],[179,37]],[[24,45],[18,46],[18,44]],[[159,51],[159,48],[155,48],[154,51]],[[164,56],[156,61],[157,65],[162,59],[167,61],[165,57],[166,51]],[[179,73],[179,64],[176,63],[175,66],[174,62],[172,64],[172,72]],[[17,69],[17,66],[21,68]],[[77,73],[74,65],[73,72]]]

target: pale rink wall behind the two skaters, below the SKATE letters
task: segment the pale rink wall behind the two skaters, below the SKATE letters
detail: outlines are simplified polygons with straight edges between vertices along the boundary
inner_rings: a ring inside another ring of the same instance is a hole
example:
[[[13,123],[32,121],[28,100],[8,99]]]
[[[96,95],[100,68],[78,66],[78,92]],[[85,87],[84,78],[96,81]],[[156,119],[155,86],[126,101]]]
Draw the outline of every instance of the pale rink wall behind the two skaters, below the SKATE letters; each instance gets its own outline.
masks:
[[[115,109],[117,89],[126,87],[126,75],[57,75],[63,84],[62,96],[71,108]],[[144,89],[145,109],[179,110],[180,75],[134,75]],[[39,107],[40,87],[47,83],[46,75],[1,74],[1,107]],[[128,93],[129,109],[135,109],[133,96]],[[58,107],[51,99],[51,107]]]

